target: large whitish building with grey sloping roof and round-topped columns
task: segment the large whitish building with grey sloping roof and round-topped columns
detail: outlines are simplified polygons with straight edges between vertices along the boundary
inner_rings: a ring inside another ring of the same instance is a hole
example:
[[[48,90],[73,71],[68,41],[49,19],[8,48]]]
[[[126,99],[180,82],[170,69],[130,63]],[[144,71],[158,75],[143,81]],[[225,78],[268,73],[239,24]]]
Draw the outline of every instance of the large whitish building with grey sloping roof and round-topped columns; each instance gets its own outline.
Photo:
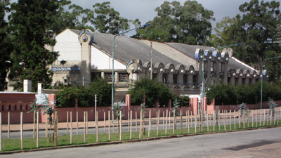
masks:
[[[114,35],[65,29],[55,39],[53,51],[59,58],[53,63],[53,84],[89,84],[95,77],[112,82],[112,41]],[[115,85],[117,92],[128,91],[129,83],[150,77],[150,46],[148,40],[115,38]],[[152,77],[184,94],[199,94],[202,83],[202,62],[207,84],[218,81],[249,84],[261,79],[261,72],[232,57],[225,49],[152,41]],[[263,73],[266,75],[266,71]],[[266,78],[266,77],[265,77]]]

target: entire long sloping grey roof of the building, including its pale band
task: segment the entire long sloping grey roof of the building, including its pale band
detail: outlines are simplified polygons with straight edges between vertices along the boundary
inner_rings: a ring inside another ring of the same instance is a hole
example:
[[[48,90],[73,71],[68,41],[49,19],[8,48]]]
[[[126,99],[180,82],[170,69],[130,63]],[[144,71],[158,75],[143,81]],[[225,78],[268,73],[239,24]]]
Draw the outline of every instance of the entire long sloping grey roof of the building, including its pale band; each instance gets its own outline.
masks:
[[[79,34],[79,30],[70,29],[72,32]],[[93,33],[93,46],[104,51],[108,55],[112,55],[112,42],[115,35]],[[193,65],[195,67],[195,51],[202,48],[204,51],[214,49],[207,46],[192,46],[179,43],[161,43],[153,41],[152,43],[152,63],[162,62],[164,65],[168,63],[182,65]],[[143,63],[150,62],[150,41],[138,40],[129,37],[115,37],[115,59],[126,63],[131,59],[140,59]],[[246,65],[244,62],[236,58],[230,58],[228,69],[254,70],[254,68]]]

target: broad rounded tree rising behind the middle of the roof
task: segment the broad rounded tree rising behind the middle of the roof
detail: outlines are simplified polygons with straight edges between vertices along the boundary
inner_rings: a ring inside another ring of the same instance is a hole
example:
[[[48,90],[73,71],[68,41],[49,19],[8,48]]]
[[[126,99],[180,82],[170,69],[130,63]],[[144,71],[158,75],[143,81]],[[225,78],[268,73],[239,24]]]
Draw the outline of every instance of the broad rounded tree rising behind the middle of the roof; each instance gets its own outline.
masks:
[[[197,1],[185,1],[183,6],[178,1],[165,1],[155,11],[157,16],[148,22],[151,26],[138,32],[145,39],[202,45],[211,35],[214,13]]]

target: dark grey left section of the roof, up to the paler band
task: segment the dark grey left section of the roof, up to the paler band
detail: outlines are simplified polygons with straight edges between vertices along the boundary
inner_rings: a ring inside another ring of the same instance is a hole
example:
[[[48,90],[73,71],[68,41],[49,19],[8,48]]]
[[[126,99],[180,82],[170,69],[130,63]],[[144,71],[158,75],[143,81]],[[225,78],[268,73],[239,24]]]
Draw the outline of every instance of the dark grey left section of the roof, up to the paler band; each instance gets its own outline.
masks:
[[[93,33],[94,46],[98,46],[101,50],[112,55],[112,42],[115,35]],[[150,62],[150,46],[143,44],[138,39],[129,37],[117,36],[115,37],[115,58],[128,62],[131,59],[140,59],[142,63]],[[180,64],[162,53],[152,49],[152,63],[162,62],[164,65],[168,63],[176,65]]]

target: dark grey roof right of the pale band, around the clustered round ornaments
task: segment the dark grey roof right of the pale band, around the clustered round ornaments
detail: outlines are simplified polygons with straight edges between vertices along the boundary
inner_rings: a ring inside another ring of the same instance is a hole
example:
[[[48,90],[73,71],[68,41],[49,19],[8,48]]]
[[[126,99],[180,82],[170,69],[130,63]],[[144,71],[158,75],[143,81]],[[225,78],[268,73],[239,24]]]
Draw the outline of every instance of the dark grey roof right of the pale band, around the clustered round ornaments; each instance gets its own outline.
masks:
[[[204,51],[205,50],[210,50],[214,49],[212,47],[208,46],[192,46],[188,44],[178,44],[178,43],[166,43],[169,46],[175,48],[178,51],[181,51],[182,53],[185,53],[185,55],[190,56],[191,58],[195,59],[195,51],[197,48],[202,48]],[[242,70],[251,70],[250,66],[247,66],[243,62],[239,60],[235,60],[235,58],[230,58],[228,62],[228,70],[229,69],[242,69]]]

